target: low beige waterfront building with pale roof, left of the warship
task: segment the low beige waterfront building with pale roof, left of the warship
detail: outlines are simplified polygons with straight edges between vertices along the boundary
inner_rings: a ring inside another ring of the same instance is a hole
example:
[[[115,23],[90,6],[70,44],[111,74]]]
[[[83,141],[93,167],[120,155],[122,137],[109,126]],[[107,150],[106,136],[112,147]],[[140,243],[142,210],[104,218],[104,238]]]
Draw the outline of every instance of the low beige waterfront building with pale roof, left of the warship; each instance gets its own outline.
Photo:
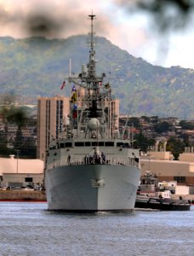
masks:
[[[2,187],[22,187],[43,184],[43,160],[0,158],[0,180]]]

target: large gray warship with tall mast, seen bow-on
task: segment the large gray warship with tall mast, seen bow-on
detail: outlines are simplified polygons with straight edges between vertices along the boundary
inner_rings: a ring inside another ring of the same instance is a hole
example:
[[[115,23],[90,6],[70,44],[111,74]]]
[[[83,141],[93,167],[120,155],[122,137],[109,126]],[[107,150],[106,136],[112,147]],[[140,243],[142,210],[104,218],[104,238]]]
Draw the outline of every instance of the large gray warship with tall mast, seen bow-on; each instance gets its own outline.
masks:
[[[96,75],[95,15],[88,15],[88,65],[66,78],[72,85],[64,131],[49,143],[45,168],[48,210],[131,211],[140,182],[138,149],[120,131],[106,73]]]

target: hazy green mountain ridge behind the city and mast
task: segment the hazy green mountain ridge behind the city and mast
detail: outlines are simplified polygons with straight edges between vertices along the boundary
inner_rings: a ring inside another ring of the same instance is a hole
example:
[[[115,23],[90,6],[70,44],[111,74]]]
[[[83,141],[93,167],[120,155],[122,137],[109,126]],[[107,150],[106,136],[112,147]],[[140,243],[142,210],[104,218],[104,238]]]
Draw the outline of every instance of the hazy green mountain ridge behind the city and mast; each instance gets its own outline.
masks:
[[[60,84],[71,70],[88,63],[87,36],[66,39],[0,38],[0,93],[25,96],[69,95]],[[110,76],[121,100],[120,113],[194,119],[194,70],[158,67],[129,55],[106,38],[96,38],[97,73]],[[27,100],[26,100],[27,101]]]

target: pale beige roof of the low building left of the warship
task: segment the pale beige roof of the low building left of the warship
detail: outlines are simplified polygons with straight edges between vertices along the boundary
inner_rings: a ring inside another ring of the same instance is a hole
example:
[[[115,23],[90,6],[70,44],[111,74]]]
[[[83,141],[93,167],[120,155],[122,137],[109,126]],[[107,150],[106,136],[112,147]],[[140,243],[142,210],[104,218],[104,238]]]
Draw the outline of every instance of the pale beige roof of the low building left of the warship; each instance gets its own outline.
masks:
[[[43,173],[43,160],[0,157],[0,175],[3,173]]]

